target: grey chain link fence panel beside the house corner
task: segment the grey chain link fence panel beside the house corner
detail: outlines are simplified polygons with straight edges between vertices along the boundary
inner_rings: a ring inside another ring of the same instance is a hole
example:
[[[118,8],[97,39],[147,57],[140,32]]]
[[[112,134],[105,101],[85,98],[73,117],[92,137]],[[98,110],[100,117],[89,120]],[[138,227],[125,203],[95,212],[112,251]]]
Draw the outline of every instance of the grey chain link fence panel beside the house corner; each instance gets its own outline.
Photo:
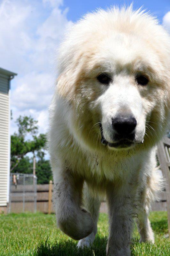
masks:
[[[36,212],[37,177],[34,174],[11,173],[8,212]]]

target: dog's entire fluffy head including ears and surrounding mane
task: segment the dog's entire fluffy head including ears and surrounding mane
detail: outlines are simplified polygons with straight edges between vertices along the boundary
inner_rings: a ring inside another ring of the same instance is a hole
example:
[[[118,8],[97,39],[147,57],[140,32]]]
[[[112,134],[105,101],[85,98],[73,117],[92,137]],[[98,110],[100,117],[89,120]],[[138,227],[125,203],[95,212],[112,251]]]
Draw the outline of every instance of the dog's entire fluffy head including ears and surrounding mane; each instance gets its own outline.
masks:
[[[143,12],[113,9],[75,24],[60,48],[68,126],[95,149],[148,148],[165,132],[169,36]]]

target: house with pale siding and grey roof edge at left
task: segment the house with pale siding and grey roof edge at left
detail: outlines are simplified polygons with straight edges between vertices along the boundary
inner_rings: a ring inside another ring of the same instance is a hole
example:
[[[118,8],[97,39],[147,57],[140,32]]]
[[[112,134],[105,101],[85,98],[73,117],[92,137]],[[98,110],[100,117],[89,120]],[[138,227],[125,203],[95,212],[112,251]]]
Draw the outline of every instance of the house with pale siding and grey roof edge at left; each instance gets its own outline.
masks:
[[[7,211],[10,182],[10,83],[16,73],[0,68],[0,213]]]

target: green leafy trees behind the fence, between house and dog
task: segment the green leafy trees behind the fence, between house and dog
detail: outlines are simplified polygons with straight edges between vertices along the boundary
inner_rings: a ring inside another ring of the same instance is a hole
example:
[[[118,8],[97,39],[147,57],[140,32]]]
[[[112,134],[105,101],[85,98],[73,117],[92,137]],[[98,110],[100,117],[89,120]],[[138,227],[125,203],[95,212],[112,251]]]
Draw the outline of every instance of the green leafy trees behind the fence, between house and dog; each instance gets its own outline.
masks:
[[[37,135],[37,121],[31,116],[19,116],[16,123],[18,133],[11,136],[11,172],[33,173],[33,159],[26,156],[31,152],[36,156],[37,183],[49,183],[52,172],[49,160],[44,159],[46,134]]]

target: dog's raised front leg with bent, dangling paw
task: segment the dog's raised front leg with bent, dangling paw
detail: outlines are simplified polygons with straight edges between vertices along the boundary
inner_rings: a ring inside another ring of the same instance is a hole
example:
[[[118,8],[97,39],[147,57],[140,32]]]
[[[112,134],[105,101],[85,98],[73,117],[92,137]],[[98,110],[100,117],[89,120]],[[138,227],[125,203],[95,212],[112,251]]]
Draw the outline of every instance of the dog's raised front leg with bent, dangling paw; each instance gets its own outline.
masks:
[[[88,236],[94,228],[90,213],[80,208],[82,185],[83,180],[75,179],[68,170],[60,172],[55,184],[58,227],[75,240]]]

